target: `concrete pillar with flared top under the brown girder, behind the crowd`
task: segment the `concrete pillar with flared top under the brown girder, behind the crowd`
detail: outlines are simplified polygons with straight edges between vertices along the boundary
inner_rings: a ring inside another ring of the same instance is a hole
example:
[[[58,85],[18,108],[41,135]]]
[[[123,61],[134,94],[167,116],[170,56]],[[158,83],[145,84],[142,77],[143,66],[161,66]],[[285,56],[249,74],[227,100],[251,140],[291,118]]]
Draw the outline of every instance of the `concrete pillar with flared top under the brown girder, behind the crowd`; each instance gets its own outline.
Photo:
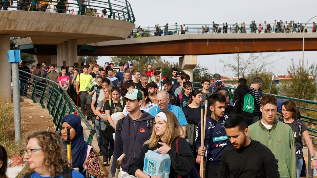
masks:
[[[197,55],[184,55],[179,58],[179,66],[186,74],[191,77],[190,81],[194,81],[193,69],[196,67],[196,65]]]

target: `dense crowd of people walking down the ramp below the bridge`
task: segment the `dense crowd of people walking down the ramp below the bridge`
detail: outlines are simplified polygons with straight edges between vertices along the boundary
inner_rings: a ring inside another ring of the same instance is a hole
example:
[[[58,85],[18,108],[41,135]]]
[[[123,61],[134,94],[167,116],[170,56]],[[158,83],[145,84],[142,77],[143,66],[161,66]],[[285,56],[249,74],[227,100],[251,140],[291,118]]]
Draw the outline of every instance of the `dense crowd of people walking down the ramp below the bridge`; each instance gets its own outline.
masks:
[[[177,68],[171,69],[171,76],[162,76],[162,69],[153,70],[150,63],[144,73],[128,63],[120,62],[119,71],[113,67],[113,63],[106,63],[101,68],[91,61],[81,69],[78,63],[67,67],[63,62],[60,74],[54,65],[48,67],[45,63],[32,68],[34,75],[46,75],[63,86],[74,101],[80,100],[82,114],[94,124],[100,151],[95,154],[87,145],[80,118],[70,114],[62,120],[63,142],[49,132],[27,136],[24,158],[28,159],[28,174],[58,177],[69,171],[65,155],[48,154],[46,148],[53,143],[45,141],[56,142],[52,149],[64,153],[61,148],[65,148],[68,128],[73,168],[85,177],[100,176],[97,156],[102,156],[102,166],[109,166],[111,156],[117,160],[124,153],[122,177],[151,178],[143,172],[143,166],[145,154],[155,149],[170,156],[169,177],[173,178],[193,174],[195,168],[200,169],[201,160],[205,162],[206,178],[302,177],[306,174],[302,138],[311,154],[311,166],[317,167],[307,126],[300,120],[295,103],[263,96],[259,77],[249,85],[240,78],[230,98],[217,73],[211,80],[203,79],[203,89],[198,90],[190,76]],[[28,71],[25,62],[20,69]],[[96,84],[89,88],[92,80]],[[205,110],[206,124],[202,127]],[[277,112],[282,114],[279,119]],[[41,159],[34,161],[37,157]],[[55,168],[53,157],[62,164]],[[53,168],[58,171],[52,172]],[[109,171],[114,177],[115,161]]]

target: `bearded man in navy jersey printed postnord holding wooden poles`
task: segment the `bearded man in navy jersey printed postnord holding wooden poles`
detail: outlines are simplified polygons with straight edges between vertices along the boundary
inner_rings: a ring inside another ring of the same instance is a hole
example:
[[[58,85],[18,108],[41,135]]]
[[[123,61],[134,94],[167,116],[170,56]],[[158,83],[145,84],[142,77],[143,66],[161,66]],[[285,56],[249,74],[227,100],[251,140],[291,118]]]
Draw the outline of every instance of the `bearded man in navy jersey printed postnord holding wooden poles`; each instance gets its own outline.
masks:
[[[228,116],[224,116],[226,101],[226,97],[219,92],[208,97],[211,115],[206,118],[204,148],[201,147],[201,123],[199,122],[197,125],[198,156],[196,162],[200,164],[200,156],[204,156],[206,178],[218,178],[221,155],[223,150],[231,145],[224,129],[224,123],[228,118]]]

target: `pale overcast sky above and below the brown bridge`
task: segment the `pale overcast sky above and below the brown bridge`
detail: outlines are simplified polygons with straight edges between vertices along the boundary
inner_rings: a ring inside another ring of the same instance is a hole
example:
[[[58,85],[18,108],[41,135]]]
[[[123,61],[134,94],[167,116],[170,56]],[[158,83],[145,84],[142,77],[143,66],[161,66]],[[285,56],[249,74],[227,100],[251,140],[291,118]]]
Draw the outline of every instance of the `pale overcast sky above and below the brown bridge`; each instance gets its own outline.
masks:
[[[135,24],[141,27],[152,27],[154,24],[211,24],[215,23],[274,23],[274,20],[306,23],[311,17],[317,15],[317,1],[276,1],[276,0],[239,0],[239,1],[214,1],[214,0],[128,0],[135,16]],[[317,22],[317,17],[310,22]],[[308,64],[316,63],[316,51],[305,52],[305,60]],[[231,60],[233,54],[202,55],[197,56],[197,63],[210,66],[210,73],[219,73],[222,76],[233,77],[229,69],[223,69],[219,60]],[[243,54],[248,57],[248,54]],[[162,56],[162,59],[169,56]],[[180,56],[173,56],[166,60],[178,62]],[[273,67],[267,69],[273,73],[287,73],[291,59],[297,64],[302,58],[302,52],[280,52],[268,61],[275,61]],[[105,61],[111,61],[109,56],[102,56],[98,63],[103,65]],[[211,64],[211,65],[210,65]]]

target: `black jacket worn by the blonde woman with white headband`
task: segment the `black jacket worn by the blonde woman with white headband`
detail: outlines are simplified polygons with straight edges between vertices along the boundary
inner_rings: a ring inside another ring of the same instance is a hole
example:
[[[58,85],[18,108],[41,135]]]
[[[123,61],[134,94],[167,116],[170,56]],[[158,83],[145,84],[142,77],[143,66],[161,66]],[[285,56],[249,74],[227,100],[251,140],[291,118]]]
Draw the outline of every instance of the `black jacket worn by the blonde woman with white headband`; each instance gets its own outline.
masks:
[[[176,140],[172,143],[172,148],[167,152],[167,154],[171,157],[171,169],[170,169],[170,178],[178,178],[178,175],[184,176],[188,175],[191,170],[194,168],[195,158],[191,153],[191,149],[189,147],[188,142],[185,138],[178,139],[178,152],[176,151]],[[134,175],[138,169],[143,171],[144,166],[144,155],[148,150],[154,150],[156,148],[161,147],[158,143],[157,147],[150,148],[149,145],[143,145],[140,153],[135,156],[133,161],[130,163],[128,168],[129,175]]]

